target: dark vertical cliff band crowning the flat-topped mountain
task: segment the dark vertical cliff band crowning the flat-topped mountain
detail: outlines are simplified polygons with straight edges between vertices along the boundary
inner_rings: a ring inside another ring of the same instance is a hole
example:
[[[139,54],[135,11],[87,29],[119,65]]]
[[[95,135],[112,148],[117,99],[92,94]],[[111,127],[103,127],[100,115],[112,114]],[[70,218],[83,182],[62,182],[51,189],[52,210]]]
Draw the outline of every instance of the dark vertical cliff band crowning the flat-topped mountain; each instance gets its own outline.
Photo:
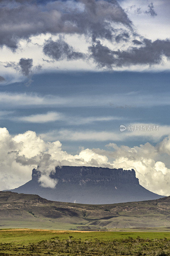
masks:
[[[33,169],[32,179],[38,180],[40,174]],[[55,172],[50,175],[51,178],[57,179],[58,183],[71,183],[80,186],[88,185],[121,185],[136,184],[139,180],[136,178],[135,171],[120,169],[109,169],[102,167],[86,166],[62,166],[56,167]]]

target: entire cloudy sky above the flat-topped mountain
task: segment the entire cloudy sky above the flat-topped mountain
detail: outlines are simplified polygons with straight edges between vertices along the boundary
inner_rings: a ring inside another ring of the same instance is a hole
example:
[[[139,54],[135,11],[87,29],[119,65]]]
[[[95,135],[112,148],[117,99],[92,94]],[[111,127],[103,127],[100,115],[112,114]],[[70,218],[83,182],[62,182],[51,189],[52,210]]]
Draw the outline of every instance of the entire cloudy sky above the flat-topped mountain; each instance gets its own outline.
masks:
[[[57,165],[170,187],[169,0],[0,1],[0,190]],[[121,129],[123,127],[123,129]]]

